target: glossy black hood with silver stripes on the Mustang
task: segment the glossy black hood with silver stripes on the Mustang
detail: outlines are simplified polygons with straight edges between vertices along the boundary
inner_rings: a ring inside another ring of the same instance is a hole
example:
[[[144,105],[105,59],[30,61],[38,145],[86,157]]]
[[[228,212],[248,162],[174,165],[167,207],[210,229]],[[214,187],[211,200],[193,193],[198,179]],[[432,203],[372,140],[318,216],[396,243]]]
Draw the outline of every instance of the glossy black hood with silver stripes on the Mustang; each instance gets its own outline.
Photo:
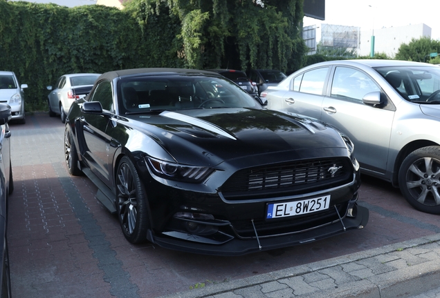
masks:
[[[263,155],[268,161],[275,161],[279,152],[285,153],[282,154],[284,160],[286,155],[291,159],[311,158],[313,150],[346,148],[333,128],[314,119],[272,110],[165,111],[159,115],[131,115],[129,118],[136,120],[133,123],[142,121],[138,130],[160,139],[158,143],[177,161],[187,159],[193,152],[208,159],[212,165],[228,159],[262,158]],[[323,155],[322,150],[315,155]]]

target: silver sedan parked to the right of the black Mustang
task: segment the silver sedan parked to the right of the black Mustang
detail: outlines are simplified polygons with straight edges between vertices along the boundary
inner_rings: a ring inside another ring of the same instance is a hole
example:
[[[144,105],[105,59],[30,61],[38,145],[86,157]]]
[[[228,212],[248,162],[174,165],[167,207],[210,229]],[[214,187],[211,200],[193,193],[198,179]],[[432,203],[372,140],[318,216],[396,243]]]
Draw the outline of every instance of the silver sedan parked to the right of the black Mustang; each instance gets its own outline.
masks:
[[[440,214],[439,89],[438,66],[354,60],[303,68],[262,96],[270,109],[339,128],[362,172],[400,187],[414,208]]]

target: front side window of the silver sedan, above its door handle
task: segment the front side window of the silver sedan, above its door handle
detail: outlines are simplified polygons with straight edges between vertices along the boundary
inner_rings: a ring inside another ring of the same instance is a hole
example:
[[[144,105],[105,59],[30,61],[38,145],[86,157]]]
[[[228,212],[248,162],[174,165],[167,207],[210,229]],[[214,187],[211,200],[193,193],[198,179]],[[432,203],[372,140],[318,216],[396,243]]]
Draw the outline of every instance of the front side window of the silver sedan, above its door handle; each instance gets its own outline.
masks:
[[[337,67],[331,85],[331,97],[362,101],[369,92],[380,91],[364,72],[354,68]]]

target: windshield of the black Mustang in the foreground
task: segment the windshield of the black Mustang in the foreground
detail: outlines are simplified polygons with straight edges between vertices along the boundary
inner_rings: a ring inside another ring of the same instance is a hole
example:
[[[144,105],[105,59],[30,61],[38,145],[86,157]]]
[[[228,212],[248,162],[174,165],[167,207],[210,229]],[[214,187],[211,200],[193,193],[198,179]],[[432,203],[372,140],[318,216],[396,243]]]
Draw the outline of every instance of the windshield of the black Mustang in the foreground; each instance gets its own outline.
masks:
[[[204,76],[139,76],[118,82],[120,114],[262,106],[232,81]]]

